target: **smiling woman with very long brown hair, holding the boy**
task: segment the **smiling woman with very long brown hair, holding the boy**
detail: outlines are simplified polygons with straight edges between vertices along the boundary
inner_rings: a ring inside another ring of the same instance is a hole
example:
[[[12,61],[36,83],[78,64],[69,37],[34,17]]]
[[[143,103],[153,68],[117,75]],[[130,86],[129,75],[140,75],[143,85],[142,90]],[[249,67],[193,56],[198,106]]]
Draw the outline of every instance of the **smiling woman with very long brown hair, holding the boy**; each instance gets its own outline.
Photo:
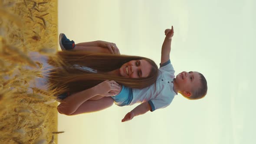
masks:
[[[50,85],[58,89],[56,94],[60,95],[61,102],[58,111],[65,115],[102,110],[111,106],[114,100],[117,105],[128,105],[132,97],[124,99],[121,94],[117,95],[121,89],[145,88],[158,76],[154,61],[138,56],[62,51],[49,63],[56,68],[51,72]]]

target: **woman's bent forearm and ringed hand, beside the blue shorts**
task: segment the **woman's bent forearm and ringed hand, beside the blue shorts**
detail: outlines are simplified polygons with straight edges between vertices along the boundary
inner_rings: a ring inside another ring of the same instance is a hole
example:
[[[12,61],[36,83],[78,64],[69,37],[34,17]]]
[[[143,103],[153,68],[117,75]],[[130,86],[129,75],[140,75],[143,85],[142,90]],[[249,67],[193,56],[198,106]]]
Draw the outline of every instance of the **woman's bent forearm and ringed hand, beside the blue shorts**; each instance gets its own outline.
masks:
[[[93,98],[96,95],[113,96],[115,95],[115,92],[113,91],[118,90],[119,87],[115,81],[106,80],[92,88],[70,95],[58,105],[57,109],[61,114],[72,115],[72,113],[77,111],[77,109],[90,98]]]

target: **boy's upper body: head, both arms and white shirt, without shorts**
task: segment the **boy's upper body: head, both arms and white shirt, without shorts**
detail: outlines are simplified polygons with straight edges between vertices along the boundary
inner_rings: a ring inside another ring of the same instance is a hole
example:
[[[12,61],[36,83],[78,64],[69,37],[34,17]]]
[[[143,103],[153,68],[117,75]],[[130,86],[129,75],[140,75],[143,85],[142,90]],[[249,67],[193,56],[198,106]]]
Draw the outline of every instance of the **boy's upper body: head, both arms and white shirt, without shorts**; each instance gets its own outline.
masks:
[[[122,122],[129,121],[147,111],[167,107],[177,93],[188,99],[200,99],[207,93],[207,81],[199,72],[181,72],[175,78],[175,71],[170,61],[171,40],[174,35],[173,26],[171,29],[166,29],[164,33],[166,37],[162,45],[158,79],[147,88],[132,89],[133,99],[130,105],[138,101],[141,102],[141,105],[126,114]]]

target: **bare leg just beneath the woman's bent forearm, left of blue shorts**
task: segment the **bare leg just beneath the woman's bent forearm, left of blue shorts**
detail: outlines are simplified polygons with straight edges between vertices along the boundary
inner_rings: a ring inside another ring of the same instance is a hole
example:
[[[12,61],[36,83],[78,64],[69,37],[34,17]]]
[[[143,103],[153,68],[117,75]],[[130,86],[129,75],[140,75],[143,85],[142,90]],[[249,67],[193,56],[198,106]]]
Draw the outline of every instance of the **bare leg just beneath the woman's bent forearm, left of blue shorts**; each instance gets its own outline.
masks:
[[[111,97],[104,97],[96,101],[85,101],[72,115],[101,111],[109,108],[113,103],[114,100]]]

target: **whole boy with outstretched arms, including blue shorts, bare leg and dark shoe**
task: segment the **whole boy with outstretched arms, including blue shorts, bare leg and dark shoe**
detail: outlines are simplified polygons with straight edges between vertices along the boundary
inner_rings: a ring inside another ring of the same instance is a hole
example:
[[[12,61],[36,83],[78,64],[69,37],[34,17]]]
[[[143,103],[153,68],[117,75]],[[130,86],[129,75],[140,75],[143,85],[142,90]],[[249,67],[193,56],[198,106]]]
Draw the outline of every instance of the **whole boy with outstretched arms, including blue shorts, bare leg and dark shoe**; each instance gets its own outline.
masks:
[[[122,122],[129,121],[137,115],[142,115],[147,111],[154,111],[159,108],[165,108],[171,104],[174,96],[180,93],[188,99],[200,99],[207,93],[207,82],[199,72],[181,72],[175,78],[174,68],[170,61],[171,40],[174,35],[174,29],[165,30],[165,39],[161,51],[161,64],[157,81],[143,89],[127,88],[122,86],[118,96],[113,96],[115,104],[118,106],[133,105],[141,103],[132,111],[125,115]],[[94,41],[87,43],[79,43],[75,45],[73,41],[69,41],[64,34],[60,34],[59,42],[62,50],[90,50],[119,54],[117,46],[114,43],[104,41]],[[70,47],[67,48],[67,46]],[[112,50],[112,51],[111,51]],[[122,99],[121,102],[119,101]]]

